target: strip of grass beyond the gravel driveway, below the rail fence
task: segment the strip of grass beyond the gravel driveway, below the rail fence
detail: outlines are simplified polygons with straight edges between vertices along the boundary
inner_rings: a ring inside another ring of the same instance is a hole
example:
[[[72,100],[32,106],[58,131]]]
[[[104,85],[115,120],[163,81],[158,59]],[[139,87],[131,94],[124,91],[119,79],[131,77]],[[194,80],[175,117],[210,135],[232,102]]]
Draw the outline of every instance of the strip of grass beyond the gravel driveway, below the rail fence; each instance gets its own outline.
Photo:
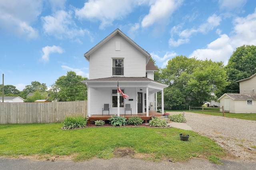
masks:
[[[182,113],[182,111],[166,111],[166,112],[180,112],[180,113]],[[186,112],[202,113],[202,111],[186,111]],[[206,115],[215,115],[215,116],[223,116],[222,112],[204,111],[204,114],[206,114]],[[225,113],[225,117],[256,121],[256,113]]]

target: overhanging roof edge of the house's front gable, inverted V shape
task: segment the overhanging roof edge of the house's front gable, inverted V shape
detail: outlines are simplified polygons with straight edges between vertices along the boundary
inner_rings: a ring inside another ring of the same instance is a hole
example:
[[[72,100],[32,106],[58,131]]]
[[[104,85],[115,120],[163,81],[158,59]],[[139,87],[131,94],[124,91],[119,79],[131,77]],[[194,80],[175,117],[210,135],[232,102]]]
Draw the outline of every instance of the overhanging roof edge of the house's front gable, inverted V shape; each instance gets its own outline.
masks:
[[[92,49],[90,49],[88,52],[86,52],[84,54],[84,57],[86,58],[86,60],[89,61],[90,55],[94,51],[99,49],[102,45],[104,45],[106,42],[108,42],[108,40],[113,38],[116,34],[119,34],[120,36],[122,36],[122,38],[124,38],[126,41],[128,41],[130,44],[132,44],[136,49],[138,49],[140,52],[144,53],[144,55],[146,56],[146,63],[148,62],[148,60],[150,59],[150,54],[147,51],[145,51],[142,47],[140,47],[138,44],[136,44],[134,41],[132,41],[128,36],[126,36],[118,28],[114,32],[112,32],[109,36],[104,38],[101,42],[99,42],[97,45],[95,45]]]

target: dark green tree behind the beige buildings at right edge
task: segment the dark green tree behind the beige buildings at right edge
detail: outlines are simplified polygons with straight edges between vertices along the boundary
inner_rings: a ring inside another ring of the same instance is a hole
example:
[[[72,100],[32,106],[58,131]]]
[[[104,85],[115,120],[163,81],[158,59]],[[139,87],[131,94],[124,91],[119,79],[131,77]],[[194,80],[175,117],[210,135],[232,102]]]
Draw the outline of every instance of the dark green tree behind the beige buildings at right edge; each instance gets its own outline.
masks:
[[[218,94],[218,97],[224,93],[239,93],[239,83],[236,81],[246,79],[256,73],[256,46],[243,45],[236,48],[225,69],[229,85]]]

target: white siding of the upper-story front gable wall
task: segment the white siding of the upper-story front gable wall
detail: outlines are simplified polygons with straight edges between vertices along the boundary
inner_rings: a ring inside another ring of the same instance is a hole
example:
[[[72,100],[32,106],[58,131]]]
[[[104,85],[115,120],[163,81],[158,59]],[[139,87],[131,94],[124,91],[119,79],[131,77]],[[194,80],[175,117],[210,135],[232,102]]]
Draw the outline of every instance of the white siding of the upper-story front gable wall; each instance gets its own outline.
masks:
[[[116,51],[116,42],[120,42],[120,51]],[[90,79],[112,77],[112,58],[124,58],[125,77],[145,77],[145,55],[117,34],[90,55]]]

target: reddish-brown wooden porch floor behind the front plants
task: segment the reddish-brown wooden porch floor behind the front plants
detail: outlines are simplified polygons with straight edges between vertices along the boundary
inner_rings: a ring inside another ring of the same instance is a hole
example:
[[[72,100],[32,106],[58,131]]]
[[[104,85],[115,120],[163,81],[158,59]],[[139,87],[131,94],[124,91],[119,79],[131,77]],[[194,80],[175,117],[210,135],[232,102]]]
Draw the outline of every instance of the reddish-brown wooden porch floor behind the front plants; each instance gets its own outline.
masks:
[[[116,114],[117,115],[117,114]],[[137,115],[130,115],[130,114],[126,114],[126,115],[121,115],[120,117],[125,117],[126,119],[129,119],[129,117],[132,116],[138,116],[140,117],[143,121],[145,121],[145,123],[147,123],[150,119],[152,115],[156,115],[156,116],[161,116],[162,113],[158,113],[158,112],[154,112],[154,111],[149,111],[148,113],[148,117],[145,113],[138,113]],[[90,124],[91,121],[97,121],[97,120],[102,120],[102,121],[106,121],[108,120],[108,118],[110,118],[112,115],[91,115],[91,117],[88,120],[88,124]]]

